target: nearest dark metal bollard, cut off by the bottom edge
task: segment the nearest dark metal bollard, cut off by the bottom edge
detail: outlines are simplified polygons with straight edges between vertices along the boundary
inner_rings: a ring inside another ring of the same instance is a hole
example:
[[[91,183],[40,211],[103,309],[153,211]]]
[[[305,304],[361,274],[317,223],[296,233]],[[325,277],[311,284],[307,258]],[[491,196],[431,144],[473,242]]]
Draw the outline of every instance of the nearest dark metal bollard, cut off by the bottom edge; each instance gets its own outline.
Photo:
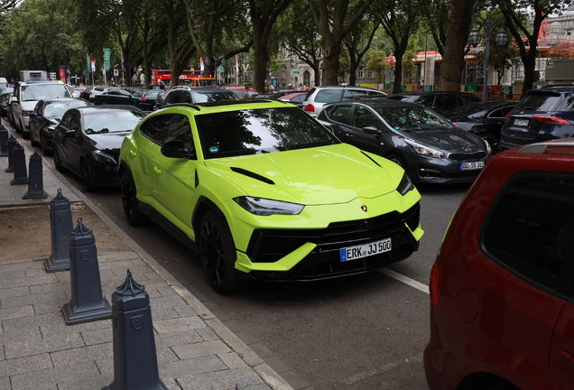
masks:
[[[112,294],[114,382],[102,390],[167,390],[157,367],[150,296],[127,270]]]

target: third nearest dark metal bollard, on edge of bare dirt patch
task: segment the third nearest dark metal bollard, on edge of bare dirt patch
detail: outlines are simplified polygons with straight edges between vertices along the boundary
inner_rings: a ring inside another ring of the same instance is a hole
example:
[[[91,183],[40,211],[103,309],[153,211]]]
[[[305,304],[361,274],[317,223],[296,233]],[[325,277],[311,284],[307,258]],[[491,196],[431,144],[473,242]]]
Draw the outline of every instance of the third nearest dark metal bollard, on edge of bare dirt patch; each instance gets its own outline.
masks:
[[[44,260],[47,272],[69,270],[69,234],[74,229],[69,200],[58,194],[50,201],[51,256]]]

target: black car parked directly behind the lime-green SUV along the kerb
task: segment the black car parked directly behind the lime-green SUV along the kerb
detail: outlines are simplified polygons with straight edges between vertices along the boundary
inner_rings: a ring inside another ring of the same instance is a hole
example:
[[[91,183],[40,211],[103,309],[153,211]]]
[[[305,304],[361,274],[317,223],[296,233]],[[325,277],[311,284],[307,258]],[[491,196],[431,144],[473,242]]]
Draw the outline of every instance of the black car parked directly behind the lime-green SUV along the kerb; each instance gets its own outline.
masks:
[[[54,165],[69,169],[82,179],[86,190],[119,185],[117,162],[125,135],[145,114],[131,106],[72,108],[56,127]]]

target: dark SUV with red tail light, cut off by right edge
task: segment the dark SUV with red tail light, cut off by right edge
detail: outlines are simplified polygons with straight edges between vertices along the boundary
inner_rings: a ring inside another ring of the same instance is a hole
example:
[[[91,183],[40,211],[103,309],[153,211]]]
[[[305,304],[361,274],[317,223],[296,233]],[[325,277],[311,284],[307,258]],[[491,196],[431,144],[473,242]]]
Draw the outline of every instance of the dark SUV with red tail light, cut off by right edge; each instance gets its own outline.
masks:
[[[574,136],[574,87],[531,89],[506,117],[500,149]]]

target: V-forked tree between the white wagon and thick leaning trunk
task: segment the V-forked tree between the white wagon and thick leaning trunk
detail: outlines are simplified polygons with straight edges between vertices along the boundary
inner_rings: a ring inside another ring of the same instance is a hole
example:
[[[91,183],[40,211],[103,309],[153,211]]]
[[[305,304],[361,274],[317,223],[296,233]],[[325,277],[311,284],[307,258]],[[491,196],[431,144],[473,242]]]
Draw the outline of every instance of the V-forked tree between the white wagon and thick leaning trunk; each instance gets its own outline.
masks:
[[[384,31],[393,41],[394,48],[394,86],[393,93],[401,92],[403,79],[403,55],[409,39],[416,31],[421,20],[417,2],[409,0],[384,0],[376,9]]]

